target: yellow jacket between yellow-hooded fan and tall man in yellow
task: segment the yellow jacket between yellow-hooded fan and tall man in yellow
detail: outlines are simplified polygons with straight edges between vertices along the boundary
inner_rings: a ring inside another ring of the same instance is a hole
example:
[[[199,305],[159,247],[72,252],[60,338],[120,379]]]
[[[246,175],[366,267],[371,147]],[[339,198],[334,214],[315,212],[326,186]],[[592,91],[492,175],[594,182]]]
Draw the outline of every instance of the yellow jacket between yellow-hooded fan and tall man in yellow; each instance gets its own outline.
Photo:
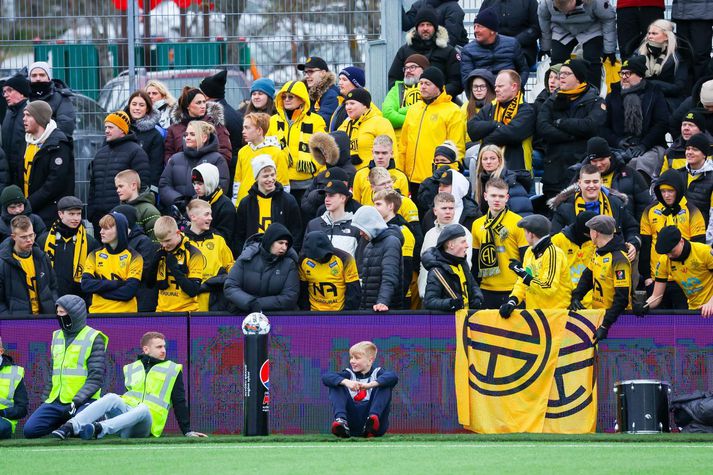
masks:
[[[357,170],[366,168],[371,161],[371,149],[374,145],[374,139],[378,135],[388,135],[394,142],[394,157],[398,157],[398,150],[396,146],[396,135],[394,134],[394,127],[391,125],[381,113],[378,113],[374,109],[367,109],[361,117],[356,120],[347,119],[342,125],[339,126],[338,130],[342,130],[349,136],[349,152],[352,158],[358,157],[361,163],[356,164],[354,160],[354,166]],[[396,164],[398,167],[398,163]]]

